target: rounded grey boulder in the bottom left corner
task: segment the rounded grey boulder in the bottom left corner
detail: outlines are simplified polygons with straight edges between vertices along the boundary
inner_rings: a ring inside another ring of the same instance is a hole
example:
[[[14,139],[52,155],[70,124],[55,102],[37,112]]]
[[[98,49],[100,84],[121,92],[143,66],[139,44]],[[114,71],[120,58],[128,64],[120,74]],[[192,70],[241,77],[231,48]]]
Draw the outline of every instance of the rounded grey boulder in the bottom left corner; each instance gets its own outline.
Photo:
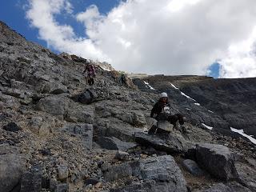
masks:
[[[9,192],[18,186],[25,163],[19,154],[0,155],[0,192]]]

